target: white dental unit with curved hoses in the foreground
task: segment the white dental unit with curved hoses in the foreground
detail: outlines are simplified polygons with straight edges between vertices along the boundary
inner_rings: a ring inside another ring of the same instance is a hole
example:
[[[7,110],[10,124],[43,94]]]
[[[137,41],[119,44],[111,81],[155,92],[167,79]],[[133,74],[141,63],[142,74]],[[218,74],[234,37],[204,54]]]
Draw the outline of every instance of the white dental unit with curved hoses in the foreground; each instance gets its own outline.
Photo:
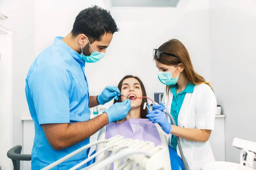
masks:
[[[166,155],[169,153],[168,151],[166,152],[167,148],[161,145],[155,147],[153,142],[144,142],[129,138],[124,139],[123,136],[119,135],[87,144],[41,170],[50,170],[83,150],[101,143],[104,143],[104,149],[99,150],[84,161],[76,164],[70,170],[78,169],[101,153],[105,153],[102,159],[96,160],[93,164],[82,170],[110,169],[112,163],[113,170],[131,170],[132,166],[134,166],[134,170],[170,170],[169,160],[167,160],[169,159],[169,155]]]

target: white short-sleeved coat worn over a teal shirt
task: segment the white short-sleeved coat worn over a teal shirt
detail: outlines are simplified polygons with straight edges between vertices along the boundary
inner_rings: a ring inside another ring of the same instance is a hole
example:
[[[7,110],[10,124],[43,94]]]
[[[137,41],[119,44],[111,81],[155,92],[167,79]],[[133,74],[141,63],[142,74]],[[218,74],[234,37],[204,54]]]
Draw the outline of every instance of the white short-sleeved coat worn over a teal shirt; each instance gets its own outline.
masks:
[[[167,111],[171,113],[173,94],[171,91],[168,93],[169,98],[165,93],[162,103],[166,106]],[[184,98],[178,116],[178,126],[214,130],[216,108],[216,97],[209,85],[196,85],[194,92],[187,93]],[[171,142],[172,134],[167,135],[167,138]],[[209,140],[202,143],[180,138],[180,144],[190,170],[201,170],[201,165],[215,161]],[[180,156],[178,146],[177,153]]]

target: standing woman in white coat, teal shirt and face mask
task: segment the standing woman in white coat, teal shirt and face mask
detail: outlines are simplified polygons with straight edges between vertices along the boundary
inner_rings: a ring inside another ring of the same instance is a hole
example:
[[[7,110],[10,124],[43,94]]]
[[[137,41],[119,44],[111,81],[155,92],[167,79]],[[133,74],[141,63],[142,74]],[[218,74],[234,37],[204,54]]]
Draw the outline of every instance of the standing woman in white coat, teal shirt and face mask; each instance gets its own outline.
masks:
[[[201,170],[201,165],[215,161],[209,143],[217,108],[212,87],[195,72],[189,53],[179,40],[163,43],[154,49],[153,55],[159,69],[158,79],[166,85],[166,91],[162,103],[153,105],[147,117],[159,123],[180,156],[176,139],[179,136],[190,170]],[[165,108],[177,126],[162,112]]]

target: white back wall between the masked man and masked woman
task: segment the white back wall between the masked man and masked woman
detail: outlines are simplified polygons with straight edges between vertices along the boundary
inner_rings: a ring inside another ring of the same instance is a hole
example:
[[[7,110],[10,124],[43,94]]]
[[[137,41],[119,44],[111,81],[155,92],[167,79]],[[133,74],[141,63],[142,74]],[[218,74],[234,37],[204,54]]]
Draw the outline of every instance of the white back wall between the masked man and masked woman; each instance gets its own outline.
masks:
[[[210,81],[207,0],[182,0],[177,8],[126,9],[110,8],[106,0],[36,1],[35,56],[51,45],[54,37],[68,34],[79,11],[93,4],[111,10],[120,31],[114,34],[107,55],[97,63],[86,65],[92,95],[99,94],[106,85],[116,86],[127,74],[141,77],[150,97],[154,91],[163,91],[164,85],[157,79],[157,68],[152,60],[152,49],[172,38],[186,45],[195,70]]]

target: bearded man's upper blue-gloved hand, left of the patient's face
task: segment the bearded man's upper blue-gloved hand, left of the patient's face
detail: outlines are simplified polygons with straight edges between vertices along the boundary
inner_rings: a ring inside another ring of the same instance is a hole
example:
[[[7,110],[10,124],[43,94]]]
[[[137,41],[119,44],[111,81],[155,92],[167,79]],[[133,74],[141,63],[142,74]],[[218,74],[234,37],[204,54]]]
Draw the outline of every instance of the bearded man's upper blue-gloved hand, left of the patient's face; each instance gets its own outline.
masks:
[[[107,88],[110,88],[113,91],[108,90]],[[110,102],[114,97],[115,100],[118,100],[118,96],[120,96],[120,91],[118,87],[107,86],[98,96],[98,102],[100,105],[104,105],[105,103]]]

